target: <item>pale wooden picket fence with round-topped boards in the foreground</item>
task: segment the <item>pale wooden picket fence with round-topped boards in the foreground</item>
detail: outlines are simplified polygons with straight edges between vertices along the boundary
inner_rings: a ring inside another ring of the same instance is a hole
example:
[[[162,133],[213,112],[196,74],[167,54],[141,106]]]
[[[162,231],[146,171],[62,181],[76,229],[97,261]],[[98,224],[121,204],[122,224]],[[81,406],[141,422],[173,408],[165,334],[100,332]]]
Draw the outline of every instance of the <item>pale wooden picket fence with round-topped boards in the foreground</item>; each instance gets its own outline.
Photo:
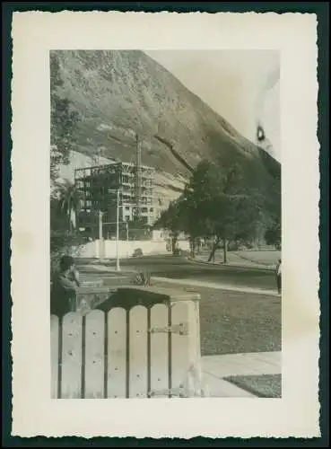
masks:
[[[201,396],[198,301],[51,315],[51,396]]]

